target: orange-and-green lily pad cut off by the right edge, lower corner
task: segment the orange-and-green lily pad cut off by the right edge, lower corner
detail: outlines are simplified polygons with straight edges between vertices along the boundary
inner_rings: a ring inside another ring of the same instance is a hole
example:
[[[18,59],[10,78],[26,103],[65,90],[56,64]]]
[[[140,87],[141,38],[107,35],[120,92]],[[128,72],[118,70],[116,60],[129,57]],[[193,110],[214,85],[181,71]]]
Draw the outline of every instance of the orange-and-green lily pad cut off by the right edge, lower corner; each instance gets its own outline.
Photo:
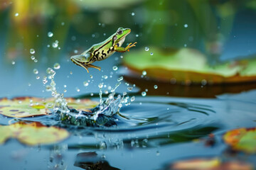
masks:
[[[256,152],[256,128],[230,130],[223,136],[224,141],[235,150]]]

